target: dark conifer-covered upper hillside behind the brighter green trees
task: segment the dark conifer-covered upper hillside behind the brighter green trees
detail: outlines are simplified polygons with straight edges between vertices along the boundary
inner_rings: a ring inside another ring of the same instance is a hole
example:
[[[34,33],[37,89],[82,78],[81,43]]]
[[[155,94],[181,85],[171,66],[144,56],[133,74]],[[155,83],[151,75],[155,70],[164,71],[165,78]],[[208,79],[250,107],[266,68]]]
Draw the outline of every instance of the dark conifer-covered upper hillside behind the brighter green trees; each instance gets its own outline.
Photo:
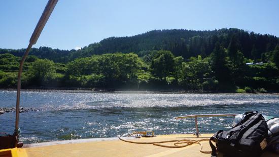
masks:
[[[54,62],[67,63],[80,57],[102,55],[108,53],[135,53],[142,57],[146,50],[169,50],[175,56],[184,59],[190,57],[206,57],[210,55],[219,42],[228,48],[231,42],[236,45],[244,57],[261,60],[265,53],[272,51],[279,39],[273,35],[256,34],[240,29],[219,29],[213,31],[195,31],[184,29],[153,30],[131,37],[110,37],[98,43],[92,43],[80,50],[60,50],[49,47],[32,48],[30,55]],[[1,48],[1,47],[0,47]],[[0,49],[0,54],[10,53],[21,57],[25,49]]]

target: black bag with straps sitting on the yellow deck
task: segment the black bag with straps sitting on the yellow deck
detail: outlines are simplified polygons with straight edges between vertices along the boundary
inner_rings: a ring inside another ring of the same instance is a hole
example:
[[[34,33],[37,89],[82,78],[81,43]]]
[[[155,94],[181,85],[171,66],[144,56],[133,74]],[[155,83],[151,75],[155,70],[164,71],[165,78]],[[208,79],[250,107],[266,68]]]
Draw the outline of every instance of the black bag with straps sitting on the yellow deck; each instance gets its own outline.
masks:
[[[243,119],[231,130],[216,132],[210,139],[212,156],[217,151],[224,156],[260,156],[266,148],[268,127],[258,112],[247,112]],[[212,141],[216,143],[217,151]]]

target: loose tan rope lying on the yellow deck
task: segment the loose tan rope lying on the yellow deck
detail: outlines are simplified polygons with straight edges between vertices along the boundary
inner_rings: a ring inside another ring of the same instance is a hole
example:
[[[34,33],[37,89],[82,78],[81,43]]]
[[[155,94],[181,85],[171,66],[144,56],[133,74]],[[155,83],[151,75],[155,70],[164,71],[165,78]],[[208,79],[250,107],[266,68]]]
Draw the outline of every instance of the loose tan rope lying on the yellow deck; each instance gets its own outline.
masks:
[[[153,144],[161,147],[167,147],[167,148],[182,148],[186,147],[188,145],[191,145],[193,143],[197,143],[200,145],[199,151],[202,153],[211,153],[211,151],[205,151],[202,150],[202,144],[200,143],[201,141],[209,141],[210,138],[203,138],[203,139],[198,139],[198,140],[192,140],[192,139],[181,139],[181,140],[167,140],[167,141],[158,141],[158,142],[137,142],[137,141],[129,141],[125,140],[123,138],[118,137],[121,141],[128,142],[128,143],[135,143],[135,144]],[[170,142],[175,142],[173,143],[174,145],[163,145],[160,143],[170,143]]]

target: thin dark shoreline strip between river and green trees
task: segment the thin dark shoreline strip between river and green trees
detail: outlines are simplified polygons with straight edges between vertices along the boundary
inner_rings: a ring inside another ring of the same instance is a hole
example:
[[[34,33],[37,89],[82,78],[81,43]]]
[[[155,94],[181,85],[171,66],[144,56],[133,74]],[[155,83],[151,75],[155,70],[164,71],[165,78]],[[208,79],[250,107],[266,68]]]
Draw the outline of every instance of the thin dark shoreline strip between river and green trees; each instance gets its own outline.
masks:
[[[0,88],[0,91],[17,91],[16,88]],[[92,90],[90,88],[47,88],[47,89],[36,89],[36,88],[27,88],[27,89],[21,89],[21,91],[61,91],[61,92],[92,92],[92,93],[162,93],[162,94],[276,94],[279,95],[279,92],[267,92],[267,93],[237,93],[237,92],[212,92],[212,91],[193,91],[193,90],[128,90],[128,89],[118,89],[118,90]]]

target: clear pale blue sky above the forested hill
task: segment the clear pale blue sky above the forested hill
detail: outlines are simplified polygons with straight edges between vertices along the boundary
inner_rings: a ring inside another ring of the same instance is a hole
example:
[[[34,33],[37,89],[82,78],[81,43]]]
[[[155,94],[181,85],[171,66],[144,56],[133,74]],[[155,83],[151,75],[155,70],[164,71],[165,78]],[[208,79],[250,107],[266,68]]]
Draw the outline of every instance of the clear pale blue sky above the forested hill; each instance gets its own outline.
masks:
[[[26,48],[46,4],[0,1],[0,48]],[[33,47],[72,49],[154,29],[215,28],[279,36],[279,1],[59,0]]]

